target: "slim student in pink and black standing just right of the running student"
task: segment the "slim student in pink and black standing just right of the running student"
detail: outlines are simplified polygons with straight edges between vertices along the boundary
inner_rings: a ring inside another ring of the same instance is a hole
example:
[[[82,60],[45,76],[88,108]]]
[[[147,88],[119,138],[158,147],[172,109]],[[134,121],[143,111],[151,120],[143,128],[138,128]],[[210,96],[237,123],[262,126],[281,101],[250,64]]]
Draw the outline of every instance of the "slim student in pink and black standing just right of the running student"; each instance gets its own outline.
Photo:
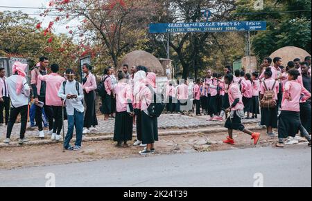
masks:
[[[247,112],[247,119],[250,119],[250,113],[252,112],[252,91],[254,82],[252,81],[249,73],[245,75],[245,79],[246,86],[243,92],[243,104],[245,106],[244,112]]]

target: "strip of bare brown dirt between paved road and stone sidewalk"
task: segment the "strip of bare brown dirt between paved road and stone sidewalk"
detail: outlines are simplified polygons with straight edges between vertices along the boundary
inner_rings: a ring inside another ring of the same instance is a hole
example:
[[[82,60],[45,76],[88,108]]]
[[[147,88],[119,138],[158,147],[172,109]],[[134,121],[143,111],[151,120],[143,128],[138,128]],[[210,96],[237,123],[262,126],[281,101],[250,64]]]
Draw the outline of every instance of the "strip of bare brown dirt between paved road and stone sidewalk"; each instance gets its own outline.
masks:
[[[271,146],[277,142],[277,138],[267,137],[261,130],[261,139],[257,146]],[[249,135],[243,133],[234,134],[235,145],[223,144],[227,133],[214,134],[187,134],[160,136],[155,144],[154,155],[194,153],[203,151],[221,151],[227,149],[252,148],[252,140]],[[80,151],[62,152],[62,144],[43,146],[6,147],[0,149],[0,169],[16,169],[28,166],[47,166],[55,164],[71,164],[77,162],[89,162],[94,160],[114,160],[128,157],[144,157],[139,155],[141,147],[117,148],[111,140],[102,142],[84,142]],[[151,156],[148,156],[151,157]]]

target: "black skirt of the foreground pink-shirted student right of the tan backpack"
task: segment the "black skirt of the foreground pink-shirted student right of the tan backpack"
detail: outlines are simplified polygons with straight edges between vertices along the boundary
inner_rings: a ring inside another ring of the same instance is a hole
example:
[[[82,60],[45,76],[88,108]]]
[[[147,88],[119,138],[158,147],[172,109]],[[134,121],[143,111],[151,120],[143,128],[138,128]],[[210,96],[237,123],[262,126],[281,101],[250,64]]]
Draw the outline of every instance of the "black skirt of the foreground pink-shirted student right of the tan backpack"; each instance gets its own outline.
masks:
[[[281,111],[279,115],[279,138],[295,137],[300,129],[300,113]]]

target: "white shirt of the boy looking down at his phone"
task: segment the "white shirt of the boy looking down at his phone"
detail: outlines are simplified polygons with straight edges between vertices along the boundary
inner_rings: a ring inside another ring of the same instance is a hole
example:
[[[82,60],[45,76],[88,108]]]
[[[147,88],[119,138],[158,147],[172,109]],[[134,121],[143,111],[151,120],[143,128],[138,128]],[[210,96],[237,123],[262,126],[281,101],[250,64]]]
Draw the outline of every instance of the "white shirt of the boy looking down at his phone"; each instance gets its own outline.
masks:
[[[76,99],[67,99],[67,95],[77,95]],[[79,94],[76,89],[76,80],[73,80],[73,82],[67,81],[65,85],[65,94],[64,94],[64,87],[61,86],[60,90],[58,91],[58,97],[64,99],[66,102],[66,110],[67,110],[67,115],[73,116],[74,111],[83,113],[85,112],[85,107],[83,106],[83,86],[79,83]]]

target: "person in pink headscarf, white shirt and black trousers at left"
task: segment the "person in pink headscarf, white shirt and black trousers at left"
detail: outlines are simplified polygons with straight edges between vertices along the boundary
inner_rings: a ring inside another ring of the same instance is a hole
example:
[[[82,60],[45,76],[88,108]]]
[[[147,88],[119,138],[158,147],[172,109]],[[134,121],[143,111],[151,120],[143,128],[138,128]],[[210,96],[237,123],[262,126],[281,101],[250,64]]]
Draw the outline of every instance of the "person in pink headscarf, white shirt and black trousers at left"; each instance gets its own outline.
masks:
[[[27,115],[28,115],[28,97],[30,95],[30,88],[27,84],[25,69],[27,64],[21,64],[16,61],[12,66],[13,75],[8,78],[8,93],[11,99],[10,119],[6,132],[6,140],[4,143],[10,143],[10,136],[12,128],[16,122],[17,116],[21,115],[21,131],[19,133],[19,144],[27,142],[25,138]]]

